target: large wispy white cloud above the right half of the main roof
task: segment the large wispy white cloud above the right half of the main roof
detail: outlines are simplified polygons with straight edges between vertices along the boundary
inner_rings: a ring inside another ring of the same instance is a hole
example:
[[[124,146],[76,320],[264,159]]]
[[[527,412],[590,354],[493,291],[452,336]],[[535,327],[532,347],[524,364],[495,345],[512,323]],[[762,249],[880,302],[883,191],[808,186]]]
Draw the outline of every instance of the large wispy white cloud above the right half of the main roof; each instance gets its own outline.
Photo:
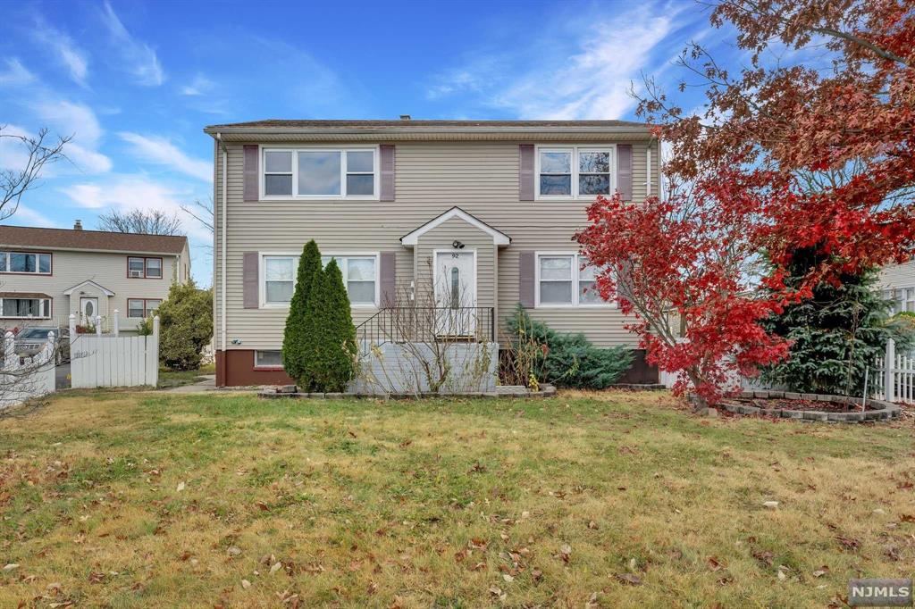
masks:
[[[613,5],[609,16],[577,16],[561,34],[550,33],[550,39],[567,41],[565,46],[544,49],[537,42],[541,37],[533,36],[528,48],[478,53],[436,78],[426,97],[460,96],[528,119],[620,118],[635,105],[630,82],[640,80],[640,70],[651,69],[659,56],[670,56],[667,37],[684,27],[690,7],[619,6]]]

